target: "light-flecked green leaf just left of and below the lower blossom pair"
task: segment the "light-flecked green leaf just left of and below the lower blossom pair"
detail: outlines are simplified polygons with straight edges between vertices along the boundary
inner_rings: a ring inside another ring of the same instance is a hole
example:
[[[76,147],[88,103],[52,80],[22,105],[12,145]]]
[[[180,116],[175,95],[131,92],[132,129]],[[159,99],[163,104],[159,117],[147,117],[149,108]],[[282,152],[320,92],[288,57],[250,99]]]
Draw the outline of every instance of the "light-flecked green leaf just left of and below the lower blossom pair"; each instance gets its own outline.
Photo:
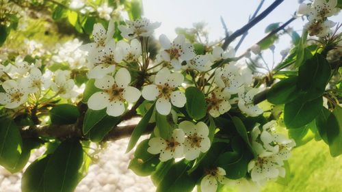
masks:
[[[147,152],[148,139],[142,141],[134,152],[134,158],[129,163],[131,169],[138,176],[149,176],[155,171],[159,161],[158,155]]]

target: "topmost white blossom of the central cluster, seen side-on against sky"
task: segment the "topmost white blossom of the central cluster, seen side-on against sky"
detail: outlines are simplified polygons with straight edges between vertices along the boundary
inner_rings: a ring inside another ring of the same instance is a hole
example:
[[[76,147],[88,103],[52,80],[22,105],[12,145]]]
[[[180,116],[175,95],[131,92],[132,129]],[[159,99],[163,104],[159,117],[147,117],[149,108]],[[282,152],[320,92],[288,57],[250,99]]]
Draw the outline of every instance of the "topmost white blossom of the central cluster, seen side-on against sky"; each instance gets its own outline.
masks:
[[[147,18],[137,20],[126,20],[127,25],[119,25],[121,36],[127,40],[137,37],[148,37],[157,29],[161,23],[151,23]]]

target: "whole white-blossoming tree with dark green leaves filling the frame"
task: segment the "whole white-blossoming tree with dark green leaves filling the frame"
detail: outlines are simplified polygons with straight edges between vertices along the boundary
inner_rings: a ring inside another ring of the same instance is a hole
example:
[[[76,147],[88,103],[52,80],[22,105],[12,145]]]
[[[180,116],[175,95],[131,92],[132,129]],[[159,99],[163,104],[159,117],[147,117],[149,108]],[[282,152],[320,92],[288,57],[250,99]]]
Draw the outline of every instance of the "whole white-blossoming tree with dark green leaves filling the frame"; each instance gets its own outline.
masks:
[[[288,178],[287,160],[303,130],[323,139],[332,156],[342,154],[341,25],[328,20],[339,12],[337,0],[300,5],[298,15],[272,25],[239,56],[233,40],[282,1],[213,44],[201,42],[200,33],[187,38],[187,30],[156,40],[161,23],[141,18],[139,1],[124,8],[90,2],[29,1],[55,20],[67,18],[87,43],[47,51],[31,41],[23,53],[1,55],[0,165],[19,172],[31,150],[48,148],[25,169],[23,191],[73,191],[96,153],[90,144],[122,137],[130,137],[127,152],[135,150],[129,168],[150,176],[157,191],[192,191],[196,184],[200,191],[253,191]],[[26,5],[1,1],[3,10]],[[131,20],[118,16],[124,9]],[[292,31],[289,54],[274,68],[263,66],[263,51],[300,16],[308,23],[302,36]],[[1,44],[17,20],[1,20]],[[120,124],[135,117],[137,124]]]

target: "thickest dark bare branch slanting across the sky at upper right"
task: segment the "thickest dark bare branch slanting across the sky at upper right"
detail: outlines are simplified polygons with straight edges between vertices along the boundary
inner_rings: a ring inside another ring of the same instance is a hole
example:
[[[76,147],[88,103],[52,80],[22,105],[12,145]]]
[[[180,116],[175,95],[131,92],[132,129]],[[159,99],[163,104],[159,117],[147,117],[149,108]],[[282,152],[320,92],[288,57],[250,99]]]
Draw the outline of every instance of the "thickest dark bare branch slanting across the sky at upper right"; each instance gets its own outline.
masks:
[[[248,31],[250,28],[254,27],[257,23],[259,23],[263,18],[265,18],[269,13],[271,13],[280,3],[282,3],[284,0],[276,0],[274,1],[269,7],[263,11],[261,14],[259,14],[257,17],[254,19],[250,20],[244,27],[241,27],[240,29],[237,29],[234,33],[232,33],[230,36],[226,36],[224,43],[222,44],[222,49],[226,50],[228,48],[228,45],[233,42],[237,37],[243,35]]]

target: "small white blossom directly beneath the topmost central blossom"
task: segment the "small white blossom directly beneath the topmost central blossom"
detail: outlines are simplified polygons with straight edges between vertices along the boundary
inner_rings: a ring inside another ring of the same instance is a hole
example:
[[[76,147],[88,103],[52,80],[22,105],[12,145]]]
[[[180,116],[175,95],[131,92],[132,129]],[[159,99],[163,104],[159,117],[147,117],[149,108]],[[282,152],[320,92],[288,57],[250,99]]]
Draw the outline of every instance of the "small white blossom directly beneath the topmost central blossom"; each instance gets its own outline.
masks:
[[[123,59],[127,62],[139,61],[139,57],[142,55],[142,46],[137,39],[131,40],[131,44],[120,40],[116,46],[122,49]]]

